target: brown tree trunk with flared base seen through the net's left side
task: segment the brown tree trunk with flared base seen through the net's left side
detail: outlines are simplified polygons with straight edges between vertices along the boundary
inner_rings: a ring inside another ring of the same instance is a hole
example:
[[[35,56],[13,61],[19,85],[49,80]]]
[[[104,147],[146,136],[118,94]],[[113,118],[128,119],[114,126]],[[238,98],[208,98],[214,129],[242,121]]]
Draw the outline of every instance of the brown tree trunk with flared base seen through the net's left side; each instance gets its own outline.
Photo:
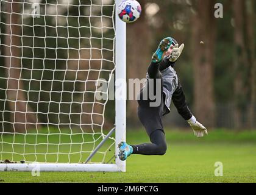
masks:
[[[14,12],[12,15],[7,15],[6,23],[7,28],[5,29],[4,37],[4,53],[7,57],[4,58],[4,65],[9,71],[5,71],[6,77],[9,79],[6,83],[6,94],[7,99],[9,100],[10,108],[10,122],[13,122],[14,128],[18,132],[25,132],[26,127],[28,129],[35,128],[37,119],[32,112],[32,109],[27,105],[27,98],[23,92],[24,85],[20,80],[21,74],[21,26],[20,24],[20,15],[21,5],[16,3],[7,4],[7,12]],[[10,57],[12,56],[12,57]],[[26,123],[24,123],[26,121]]]

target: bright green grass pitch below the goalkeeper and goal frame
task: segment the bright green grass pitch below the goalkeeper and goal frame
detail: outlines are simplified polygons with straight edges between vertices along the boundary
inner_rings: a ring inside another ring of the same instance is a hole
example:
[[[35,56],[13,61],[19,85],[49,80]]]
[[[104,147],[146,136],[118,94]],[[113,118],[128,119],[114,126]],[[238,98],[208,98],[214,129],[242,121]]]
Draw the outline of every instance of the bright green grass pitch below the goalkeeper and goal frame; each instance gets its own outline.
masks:
[[[127,132],[127,141],[148,141],[144,131]],[[256,131],[213,130],[197,139],[191,131],[166,131],[166,155],[132,155],[127,172],[0,172],[0,182],[256,182]],[[223,163],[216,177],[215,162]]]

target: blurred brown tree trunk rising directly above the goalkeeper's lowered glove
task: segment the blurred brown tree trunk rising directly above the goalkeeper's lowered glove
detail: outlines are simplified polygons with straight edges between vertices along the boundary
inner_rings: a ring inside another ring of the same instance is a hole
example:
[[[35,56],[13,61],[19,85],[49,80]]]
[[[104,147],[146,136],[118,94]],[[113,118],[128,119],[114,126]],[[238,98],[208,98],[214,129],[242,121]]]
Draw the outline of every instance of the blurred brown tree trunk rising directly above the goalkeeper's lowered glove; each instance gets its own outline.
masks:
[[[215,125],[214,65],[216,47],[216,1],[194,2],[191,20],[194,66],[194,112],[205,126]],[[202,9],[204,7],[204,9]],[[209,120],[210,119],[210,120]]]

